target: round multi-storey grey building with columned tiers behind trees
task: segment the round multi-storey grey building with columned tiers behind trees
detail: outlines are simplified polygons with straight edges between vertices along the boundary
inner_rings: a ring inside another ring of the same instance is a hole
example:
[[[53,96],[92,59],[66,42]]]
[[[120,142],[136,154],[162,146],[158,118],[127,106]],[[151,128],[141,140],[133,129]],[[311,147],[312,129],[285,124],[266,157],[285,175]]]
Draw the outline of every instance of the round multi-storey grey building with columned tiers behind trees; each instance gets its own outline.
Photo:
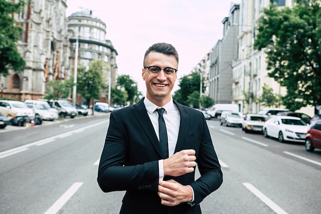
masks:
[[[89,63],[94,59],[101,59],[110,65],[103,71],[103,78],[107,88],[103,88],[101,102],[110,102],[111,87],[117,81],[117,51],[110,40],[106,40],[106,24],[92,14],[92,11],[79,11],[68,17],[68,33],[70,42],[70,68],[83,65],[88,70]],[[76,57],[76,43],[78,43],[78,59]],[[72,74],[74,75],[74,74]],[[77,100],[82,100],[78,98]],[[81,101],[80,101],[81,102]]]

